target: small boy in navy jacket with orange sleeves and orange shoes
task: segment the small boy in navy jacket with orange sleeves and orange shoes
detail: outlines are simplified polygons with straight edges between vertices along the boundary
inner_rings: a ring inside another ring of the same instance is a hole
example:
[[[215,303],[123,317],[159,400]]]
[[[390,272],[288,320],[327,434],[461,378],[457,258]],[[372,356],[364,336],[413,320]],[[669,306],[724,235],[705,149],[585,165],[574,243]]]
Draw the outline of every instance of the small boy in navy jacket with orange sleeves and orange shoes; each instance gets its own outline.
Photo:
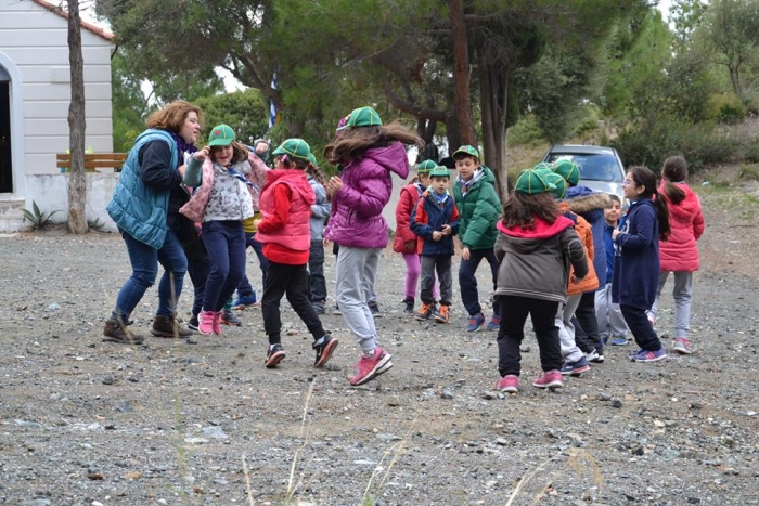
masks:
[[[459,210],[448,195],[450,178],[447,168],[436,166],[429,172],[429,190],[422,194],[411,215],[411,230],[421,238],[422,252],[422,308],[416,312],[416,320],[429,320],[435,315],[437,323],[450,322],[451,257],[455,252],[453,236],[459,233]],[[436,270],[440,282],[439,312],[433,295]]]

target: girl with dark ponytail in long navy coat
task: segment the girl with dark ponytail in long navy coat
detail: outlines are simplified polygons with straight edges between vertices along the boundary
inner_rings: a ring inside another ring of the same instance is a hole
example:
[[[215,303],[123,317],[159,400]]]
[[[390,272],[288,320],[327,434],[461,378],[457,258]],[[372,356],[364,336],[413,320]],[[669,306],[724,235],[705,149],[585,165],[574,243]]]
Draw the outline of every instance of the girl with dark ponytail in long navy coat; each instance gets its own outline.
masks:
[[[612,232],[617,247],[612,282],[612,300],[619,303],[627,326],[640,350],[628,356],[633,362],[667,359],[646,311],[656,300],[659,283],[659,241],[669,237],[667,202],[656,191],[656,176],[647,167],[631,167],[622,182],[630,208]]]

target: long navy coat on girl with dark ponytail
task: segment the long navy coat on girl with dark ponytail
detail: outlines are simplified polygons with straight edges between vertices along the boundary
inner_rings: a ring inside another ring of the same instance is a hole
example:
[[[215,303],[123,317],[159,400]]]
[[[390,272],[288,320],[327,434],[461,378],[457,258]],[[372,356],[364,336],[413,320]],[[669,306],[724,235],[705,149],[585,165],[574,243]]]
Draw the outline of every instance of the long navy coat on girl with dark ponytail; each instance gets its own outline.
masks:
[[[649,198],[630,204],[619,220],[612,301],[648,310],[659,283],[659,222]]]

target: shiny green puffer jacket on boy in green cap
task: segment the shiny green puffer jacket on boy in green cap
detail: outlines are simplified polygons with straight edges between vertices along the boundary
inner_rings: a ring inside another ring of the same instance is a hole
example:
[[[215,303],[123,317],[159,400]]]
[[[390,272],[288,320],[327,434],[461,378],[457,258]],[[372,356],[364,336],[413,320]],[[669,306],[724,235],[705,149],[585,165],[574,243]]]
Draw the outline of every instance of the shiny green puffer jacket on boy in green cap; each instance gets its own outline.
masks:
[[[468,189],[461,192],[461,182],[453,184],[453,198],[461,215],[459,237],[469,249],[492,249],[498,238],[496,223],[503,209],[496,191],[496,177],[486,166],[480,166],[484,174]]]

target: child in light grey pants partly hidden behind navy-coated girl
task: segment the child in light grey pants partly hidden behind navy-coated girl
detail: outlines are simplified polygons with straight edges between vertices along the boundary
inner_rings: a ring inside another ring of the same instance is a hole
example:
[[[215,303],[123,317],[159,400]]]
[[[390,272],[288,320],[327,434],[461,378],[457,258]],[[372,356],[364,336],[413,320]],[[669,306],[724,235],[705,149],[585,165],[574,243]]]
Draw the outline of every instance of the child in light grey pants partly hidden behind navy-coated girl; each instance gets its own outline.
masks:
[[[617,221],[622,212],[622,203],[617,195],[609,194],[609,205],[604,209],[604,242],[606,254],[606,284],[601,285],[595,293],[595,320],[599,322],[599,336],[603,342],[612,346],[628,343],[627,324],[619,310],[619,304],[612,302],[612,276],[614,273],[614,241],[612,232],[617,228]]]

